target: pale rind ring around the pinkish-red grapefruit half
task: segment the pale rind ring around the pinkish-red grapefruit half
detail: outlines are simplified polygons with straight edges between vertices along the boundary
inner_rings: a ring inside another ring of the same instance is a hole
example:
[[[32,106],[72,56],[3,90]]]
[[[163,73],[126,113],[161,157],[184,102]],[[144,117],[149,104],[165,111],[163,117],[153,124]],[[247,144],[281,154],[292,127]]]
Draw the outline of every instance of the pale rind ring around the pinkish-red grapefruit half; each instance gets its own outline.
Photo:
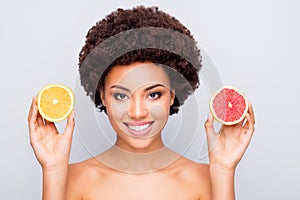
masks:
[[[217,116],[217,114],[216,114],[214,108],[213,108],[213,100],[215,99],[215,97],[216,97],[223,89],[226,89],[226,88],[227,88],[227,89],[233,89],[233,90],[235,90],[235,91],[236,91],[238,94],[240,94],[240,95],[244,98],[244,100],[245,100],[245,109],[244,109],[243,114],[242,114],[237,120],[234,120],[234,121],[228,121],[228,122],[226,122],[226,121],[222,120],[221,118],[219,118],[219,117]],[[248,100],[247,100],[245,94],[244,94],[243,92],[241,92],[239,89],[237,89],[236,87],[233,87],[233,86],[223,86],[223,87],[219,88],[219,89],[213,94],[213,96],[211,97],[210,102],[209,102],[209,108],[210,108],[211,114],[213,115],[213,117],[214,117],[218,122],[220,122],[220,123],[223,124],[223,125],[234,125],[234,124],[240,123],[240,122],[245,118],[245,116],[246,116],[246,114],[247,114],[247,112],[248,112],[248,107],[249,107],[248,104],[249,104],[249,103],[248,103]]]

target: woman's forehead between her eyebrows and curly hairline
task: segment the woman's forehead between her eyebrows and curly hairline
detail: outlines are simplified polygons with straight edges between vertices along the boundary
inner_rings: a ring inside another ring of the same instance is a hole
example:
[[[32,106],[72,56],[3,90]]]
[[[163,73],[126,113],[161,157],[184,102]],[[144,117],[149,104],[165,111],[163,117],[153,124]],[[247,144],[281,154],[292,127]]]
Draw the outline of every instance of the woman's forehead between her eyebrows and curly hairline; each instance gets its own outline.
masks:
[[[114,66],[105,79],[105,85],[121,85],[136,89],[144,85],[159,83],[170,87],[169,78],[163,68],[154,63],[132,63]]]

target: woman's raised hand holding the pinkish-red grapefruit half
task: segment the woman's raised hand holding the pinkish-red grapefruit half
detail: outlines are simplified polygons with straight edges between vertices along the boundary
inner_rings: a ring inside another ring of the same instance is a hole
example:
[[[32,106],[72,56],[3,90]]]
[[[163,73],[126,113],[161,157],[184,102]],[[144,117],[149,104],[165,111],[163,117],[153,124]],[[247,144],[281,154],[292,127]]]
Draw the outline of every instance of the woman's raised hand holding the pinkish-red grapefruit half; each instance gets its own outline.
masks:
[[[254,112],[249,103],[245,121],[235,125],[223,125],[216,134],[211,113],[205,122],[210,165],[217,164],[226,169],[235,169],[243,157],[254,132]]]

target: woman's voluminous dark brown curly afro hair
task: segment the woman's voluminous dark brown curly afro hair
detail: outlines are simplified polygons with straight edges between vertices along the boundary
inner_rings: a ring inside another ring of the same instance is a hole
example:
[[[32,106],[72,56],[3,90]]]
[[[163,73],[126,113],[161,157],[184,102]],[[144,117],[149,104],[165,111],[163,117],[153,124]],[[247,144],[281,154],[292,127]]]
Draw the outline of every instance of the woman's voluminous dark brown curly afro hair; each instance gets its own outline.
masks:
[[[176,93],[170,115],[177,113],[199,86],[200,50],[190,31],[157,7],[119,8],[88,31],[79,55],[81,85],[106,112],[100,92],[110,69],[145,61],[168,66],[164,69]]]

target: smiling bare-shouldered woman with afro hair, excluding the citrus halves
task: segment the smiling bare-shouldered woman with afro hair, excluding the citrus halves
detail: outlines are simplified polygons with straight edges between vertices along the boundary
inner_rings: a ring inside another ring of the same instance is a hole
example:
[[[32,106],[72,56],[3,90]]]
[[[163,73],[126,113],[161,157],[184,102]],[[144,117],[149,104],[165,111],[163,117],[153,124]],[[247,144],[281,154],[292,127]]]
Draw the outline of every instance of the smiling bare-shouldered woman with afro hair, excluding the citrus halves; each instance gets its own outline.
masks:
[[[162,141],[169,115],[199,86],[200,69],[190,31],[157,8],[118,9],[99,21],[87,35],[79,72],[87,95],[107,114],[116,144],[69,165],[74,113],[58,134],[33,98],[28,122],[43,170],[43,199],[234,199],[235,169],[254,131],[251,104],[244,122],[223,126],[220,134],[209,114],[209,165]]]

